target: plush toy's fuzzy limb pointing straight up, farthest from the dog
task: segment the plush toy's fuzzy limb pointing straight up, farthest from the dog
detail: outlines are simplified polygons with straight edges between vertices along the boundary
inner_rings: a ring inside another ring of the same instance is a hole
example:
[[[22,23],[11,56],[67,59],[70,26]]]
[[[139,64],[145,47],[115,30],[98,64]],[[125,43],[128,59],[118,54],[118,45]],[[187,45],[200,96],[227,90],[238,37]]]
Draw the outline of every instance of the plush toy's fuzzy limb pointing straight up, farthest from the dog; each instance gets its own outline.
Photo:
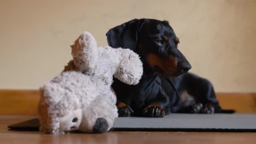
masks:
[[[71,46],[74,64],[80,72],[93,73],[98,61],[98,48],[93,35],[84,32]]]

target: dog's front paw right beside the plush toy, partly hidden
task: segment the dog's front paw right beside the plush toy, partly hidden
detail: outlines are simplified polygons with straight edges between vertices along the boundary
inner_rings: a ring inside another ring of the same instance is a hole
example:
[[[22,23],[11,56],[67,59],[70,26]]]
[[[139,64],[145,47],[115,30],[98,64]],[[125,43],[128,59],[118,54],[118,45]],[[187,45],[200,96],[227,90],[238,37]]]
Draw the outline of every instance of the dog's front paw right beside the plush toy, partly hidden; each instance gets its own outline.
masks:
[[[133,112],[131,107],[121,101],[117,101],[118,117],[129,117]]]

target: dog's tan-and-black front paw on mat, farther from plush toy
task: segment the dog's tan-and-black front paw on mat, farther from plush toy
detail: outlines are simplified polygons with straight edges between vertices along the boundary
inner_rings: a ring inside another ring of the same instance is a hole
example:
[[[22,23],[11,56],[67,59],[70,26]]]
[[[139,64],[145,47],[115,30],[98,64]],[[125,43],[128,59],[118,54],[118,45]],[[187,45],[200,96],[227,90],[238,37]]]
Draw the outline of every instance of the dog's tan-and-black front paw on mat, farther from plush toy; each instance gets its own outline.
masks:
[[[145,117],[164,117],[165,110],[160,107],[157,103],[151,103],[145,109],[143,109],[142,114]]]

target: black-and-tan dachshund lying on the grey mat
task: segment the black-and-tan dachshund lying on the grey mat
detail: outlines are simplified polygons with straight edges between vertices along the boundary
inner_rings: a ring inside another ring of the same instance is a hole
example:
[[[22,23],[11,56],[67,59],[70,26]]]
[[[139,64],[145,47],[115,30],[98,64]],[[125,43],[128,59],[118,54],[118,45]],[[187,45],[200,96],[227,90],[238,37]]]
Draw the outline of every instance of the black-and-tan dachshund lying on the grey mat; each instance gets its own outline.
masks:
[[[168,21],[133,19],[106,35],[113,48],[129,48],[138,53],[144,68],[137,85],[126,85],[114,78],[112,87],[120,117],[235,112],[221,109],[208,80],[187,73],[191,65],[179,51],[179,38]]]

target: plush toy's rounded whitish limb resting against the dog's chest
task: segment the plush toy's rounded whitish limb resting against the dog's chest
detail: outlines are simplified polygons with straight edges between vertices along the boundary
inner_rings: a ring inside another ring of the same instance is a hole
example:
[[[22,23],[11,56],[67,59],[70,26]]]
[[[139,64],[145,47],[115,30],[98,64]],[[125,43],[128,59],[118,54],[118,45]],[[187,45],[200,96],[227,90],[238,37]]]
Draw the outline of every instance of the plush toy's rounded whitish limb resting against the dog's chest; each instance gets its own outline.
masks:
[[[138,84],[143,73],[139,55],[129,49],[117,48],[115,51],[119,56],[119,63],[114,77],[128,85]]]

